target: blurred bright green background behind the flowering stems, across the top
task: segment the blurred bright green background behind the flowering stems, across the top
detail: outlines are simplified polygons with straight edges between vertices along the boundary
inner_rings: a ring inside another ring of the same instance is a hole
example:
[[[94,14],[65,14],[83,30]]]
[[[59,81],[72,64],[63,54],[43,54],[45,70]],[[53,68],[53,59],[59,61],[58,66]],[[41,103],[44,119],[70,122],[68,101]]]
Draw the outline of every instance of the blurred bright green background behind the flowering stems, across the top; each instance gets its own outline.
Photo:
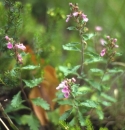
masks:
[[[5,1],[2,2],[5,3]],[[87,23],[89,32],[95,32],[95,27],[101,26],[103,30],[99,38],[104,38],[105,35],[117,38],[119,50],[124,55],[124,0],[21,0],[20,2],[23,4],[20,16],[21,26],[17,27],[15,37],[33,46],[36,53],[44,59],[48,57],[47,59],[52,65],[68,64],[69,59],[73,65],[79,62],[79,55],[75,53],[76,58],[74,59],[72,57],[74,52],[67,53],[62,50],[63,44],[79,42],[78,34],[66,29],[73,25],[72,20],[68,23],[65,22],[66,15],[70,13],[70,2],[78,3],[80,9],[89,18]],[[3,21],[3,17],[5,17],[5,14],[1,11],[1,21]],[[5,21],[7,22],[7,19]],[[6,26],[6,22],[0,23],[2,29]],[[8,35],[14,37],[12,26]],[[98,40],[96,44],[100,46]],[[93,41],[89,41],[88,46],[93,47]],[[124,60],[123,55],[120,59],[122,61]]]

